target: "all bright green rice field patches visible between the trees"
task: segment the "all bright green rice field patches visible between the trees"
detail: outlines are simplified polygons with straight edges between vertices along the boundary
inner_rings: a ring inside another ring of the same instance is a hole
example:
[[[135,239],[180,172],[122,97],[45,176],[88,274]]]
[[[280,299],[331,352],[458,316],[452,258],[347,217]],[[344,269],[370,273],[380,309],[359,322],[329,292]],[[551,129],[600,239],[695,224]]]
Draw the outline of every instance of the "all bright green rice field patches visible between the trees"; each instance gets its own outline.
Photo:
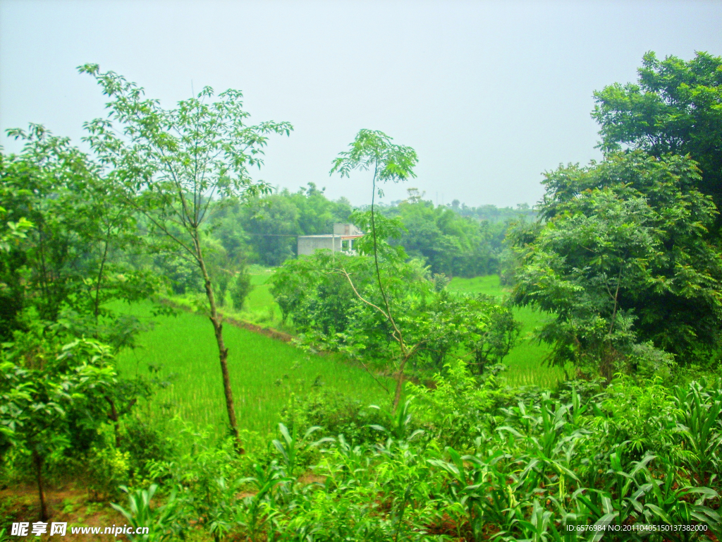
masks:
[[[251,270],[254,285],[241,311],[234,317],[256,324],[279,326],[280,309],[269,293],[272,270]],[[504,289],[497,276],[454,278],[452,291],[486,293],[502,298]],[[152,319],[155,326],[139,337],[139,348],[118,358],[118,369],[127,377],[149,374],[149,366],[160,367],[160,376],[170,385],[154,399],[148,414],[157,409],[179,415],[199,426],[222,426],[225,403],[212,327],[205,317],[181,312],[178,316],[152,317],[151,304],[127,309],[140,319]],[[522,324],[518,344],[505,358],[505,377],[512,385],[554,387],[565,377],[557,367],[542,366],[547,345],[532,338],[544,315],[531,309],[515,309]],[[279,421],[280,411],[292,395],[305,395],[318,387],[334,388],[367,404],[386,405],[390,397],[360,366],[337,356],[308,353],[290,343],[226,324],[224,337],[229,348],[228,366],[237,416],[243,429],[266,434]],[[387,386],[388,387],[388,386]]]

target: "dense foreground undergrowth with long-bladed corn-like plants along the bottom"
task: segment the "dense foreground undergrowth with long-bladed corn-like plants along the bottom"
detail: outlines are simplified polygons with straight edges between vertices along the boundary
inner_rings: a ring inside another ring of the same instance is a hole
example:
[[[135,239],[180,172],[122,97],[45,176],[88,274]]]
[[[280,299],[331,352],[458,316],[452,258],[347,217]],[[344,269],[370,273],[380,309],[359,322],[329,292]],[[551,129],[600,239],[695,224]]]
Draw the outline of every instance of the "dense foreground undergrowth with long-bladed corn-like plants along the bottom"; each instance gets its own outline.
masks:
[[[375,441],[317,441],[305,472],[297,459],[317,430],[302,425],[281,427],[278,461],[248,458],[243,466],[220,447],[168,463],[176,474],[165,487],[178,488],[170,502],[196,507],[178,508],[177,517],[200,520],[183,530],[166,525],[165,533],[379,542],[588,541],[604,530],[625,541],[689,542],[722,533],[717,466],[706,464],[700,478],[680,468],[689,436],[675,426],[671,399],[691,393],[710,412],[719,383],[665,390],[625,378],[601,392],[586,385],[516,405],[511,390],[493,379],[479,386],[464,364],[438,384],[373,424]],[[457,423],[466,433],[449,434]]]

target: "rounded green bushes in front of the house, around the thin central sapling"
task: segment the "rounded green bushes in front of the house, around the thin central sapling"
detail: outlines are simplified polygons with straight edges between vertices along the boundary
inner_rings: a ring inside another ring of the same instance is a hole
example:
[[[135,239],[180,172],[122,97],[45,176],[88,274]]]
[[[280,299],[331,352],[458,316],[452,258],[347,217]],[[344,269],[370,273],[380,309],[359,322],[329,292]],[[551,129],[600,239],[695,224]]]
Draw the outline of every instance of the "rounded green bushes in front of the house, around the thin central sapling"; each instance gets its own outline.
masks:
[[[409,363],[415,369],[442,369],[449,356],[474,358],[481,373],[501,361],[514,345],[518,324],[510,309],[488,296],[454,296],[438,278],[430,278],[416,260],[404,262],[400,246],[388,244],[393,223],[377,222],[380,277],[388,306],[407,341],[417,344]],[[340,350],[375,364],[387,364],[399,354],[393,327],[375,306],[385,306],[375,282],[369,235],[356,245],[359,256],[319,251],[313,257],[290,260],[271,278],[284,317],[291,316],[305,343]]]

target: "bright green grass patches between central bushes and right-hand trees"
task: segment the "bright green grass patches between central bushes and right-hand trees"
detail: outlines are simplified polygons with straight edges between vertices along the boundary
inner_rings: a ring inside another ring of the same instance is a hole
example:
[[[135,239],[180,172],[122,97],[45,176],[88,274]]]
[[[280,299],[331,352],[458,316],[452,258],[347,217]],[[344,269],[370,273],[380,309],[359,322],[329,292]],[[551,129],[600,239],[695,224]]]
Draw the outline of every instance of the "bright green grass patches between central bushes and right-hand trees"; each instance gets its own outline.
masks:
[[[485,293],[499,299],[508,294],[508,290],[505,290],[500,284],[498,275],[474,278],[455,277],[449,283],[448,288],[451,291],[462,293]],[[534,330],[549,317],[527,307],[515,308],[514,317],[521,322],[521,332],[516,346],[504,358],[504,363],[509,368],[505,372],[509,384],[543,388],[555,387],[560,380],[565,379],[565,370],[561,367],[542,365],[541,361],[549,353],[549,345],[540,344],[534,340]]]

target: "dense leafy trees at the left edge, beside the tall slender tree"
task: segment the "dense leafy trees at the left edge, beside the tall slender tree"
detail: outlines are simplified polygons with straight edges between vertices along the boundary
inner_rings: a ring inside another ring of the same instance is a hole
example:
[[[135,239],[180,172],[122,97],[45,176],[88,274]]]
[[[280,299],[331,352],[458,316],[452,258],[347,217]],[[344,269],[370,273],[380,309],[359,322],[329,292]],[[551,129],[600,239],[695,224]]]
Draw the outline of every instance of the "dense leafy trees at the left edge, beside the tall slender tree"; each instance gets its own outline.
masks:
[[[4,214],[17,224],[0,255],[0,337],[9,340],[32,310],[48,326],[62,320],[76,335],[121,348],[138,325],[108,301],[147,298],[158,283],[126,257],[143,244],[133,212],[68,138],[39,125],[8,133],[25,145],[0,163]],[[24,220],[32,228],[21,231]]]

